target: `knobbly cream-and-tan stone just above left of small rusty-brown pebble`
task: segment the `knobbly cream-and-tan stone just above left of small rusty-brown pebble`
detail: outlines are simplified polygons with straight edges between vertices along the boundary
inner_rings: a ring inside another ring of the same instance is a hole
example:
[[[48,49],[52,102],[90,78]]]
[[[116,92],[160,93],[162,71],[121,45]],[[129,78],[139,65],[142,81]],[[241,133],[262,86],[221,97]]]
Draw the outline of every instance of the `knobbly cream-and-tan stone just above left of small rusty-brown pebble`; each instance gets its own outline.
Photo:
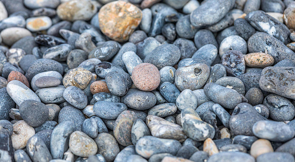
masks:
[[[92,79],[92,73],[81,67],[74,68],[67,72],[63,77],[63,85],[67,88],[69,86],[76,86],[80,89],[85,89]]]

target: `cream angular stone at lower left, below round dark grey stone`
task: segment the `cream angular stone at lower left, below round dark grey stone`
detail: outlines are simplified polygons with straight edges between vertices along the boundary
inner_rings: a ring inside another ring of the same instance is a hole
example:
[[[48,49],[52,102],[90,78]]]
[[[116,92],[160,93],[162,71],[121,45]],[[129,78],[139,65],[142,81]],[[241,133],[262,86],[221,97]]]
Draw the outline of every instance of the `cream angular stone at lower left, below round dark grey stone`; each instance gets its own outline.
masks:
[[[13,124],[13,133],[11,135],[12,146],[14,149],[26,147],[27,141],[35,135],[35,129],[28,125],[24,120],[19,120]]]

